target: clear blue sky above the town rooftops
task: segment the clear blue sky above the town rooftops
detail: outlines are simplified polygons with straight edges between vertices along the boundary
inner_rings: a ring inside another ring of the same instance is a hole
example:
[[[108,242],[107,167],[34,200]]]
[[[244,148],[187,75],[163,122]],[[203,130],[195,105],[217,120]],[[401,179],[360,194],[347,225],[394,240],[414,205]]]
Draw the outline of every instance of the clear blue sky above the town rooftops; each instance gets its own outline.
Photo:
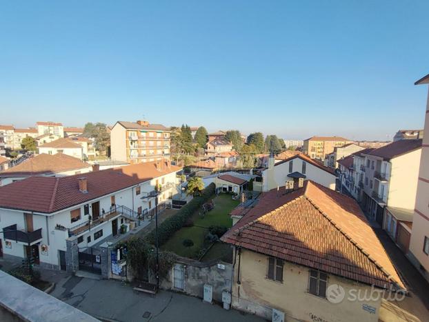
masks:
[[[427,0],[1,1],[0,123],[421,128]]]

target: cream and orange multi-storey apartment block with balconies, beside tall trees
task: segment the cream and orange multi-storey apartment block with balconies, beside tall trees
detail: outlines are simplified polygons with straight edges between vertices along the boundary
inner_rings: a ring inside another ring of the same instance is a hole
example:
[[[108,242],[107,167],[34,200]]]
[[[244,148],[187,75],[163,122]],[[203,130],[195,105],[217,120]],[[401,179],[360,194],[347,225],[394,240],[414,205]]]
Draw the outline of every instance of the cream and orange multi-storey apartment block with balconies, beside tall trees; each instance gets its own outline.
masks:
[[[170,159],[170,128],[148,121],[117,121],[110,132],[111,158],[128,163]]]

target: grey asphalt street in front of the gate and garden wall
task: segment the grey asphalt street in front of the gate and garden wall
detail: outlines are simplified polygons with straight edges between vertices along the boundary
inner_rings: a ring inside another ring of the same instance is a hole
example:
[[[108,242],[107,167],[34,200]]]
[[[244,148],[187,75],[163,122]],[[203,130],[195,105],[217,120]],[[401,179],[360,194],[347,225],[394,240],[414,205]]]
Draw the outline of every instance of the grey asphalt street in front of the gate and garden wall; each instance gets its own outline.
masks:
[[[179,293],[161,291],[150,296],[135,292],[130,285],[112,280],[67,276],[57,283],[51,295],[107,321],[263,321]]]

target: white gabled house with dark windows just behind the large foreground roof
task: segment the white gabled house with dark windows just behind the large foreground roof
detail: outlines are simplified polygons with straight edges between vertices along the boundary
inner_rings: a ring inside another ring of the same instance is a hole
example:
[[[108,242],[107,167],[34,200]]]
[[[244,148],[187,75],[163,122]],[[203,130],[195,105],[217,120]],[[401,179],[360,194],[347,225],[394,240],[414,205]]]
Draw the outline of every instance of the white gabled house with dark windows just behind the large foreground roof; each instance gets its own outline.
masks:
[[[335,190],[335,172],[323,163],[310,159],[306,154],[297,154],[289,159],[275,163],[274,157],[268,160],[268,169],[262,171],[262,182],[254,182],[254,189],[269,191],[284,187],[286,182],[297,183],[300,178],[312,180]]]

